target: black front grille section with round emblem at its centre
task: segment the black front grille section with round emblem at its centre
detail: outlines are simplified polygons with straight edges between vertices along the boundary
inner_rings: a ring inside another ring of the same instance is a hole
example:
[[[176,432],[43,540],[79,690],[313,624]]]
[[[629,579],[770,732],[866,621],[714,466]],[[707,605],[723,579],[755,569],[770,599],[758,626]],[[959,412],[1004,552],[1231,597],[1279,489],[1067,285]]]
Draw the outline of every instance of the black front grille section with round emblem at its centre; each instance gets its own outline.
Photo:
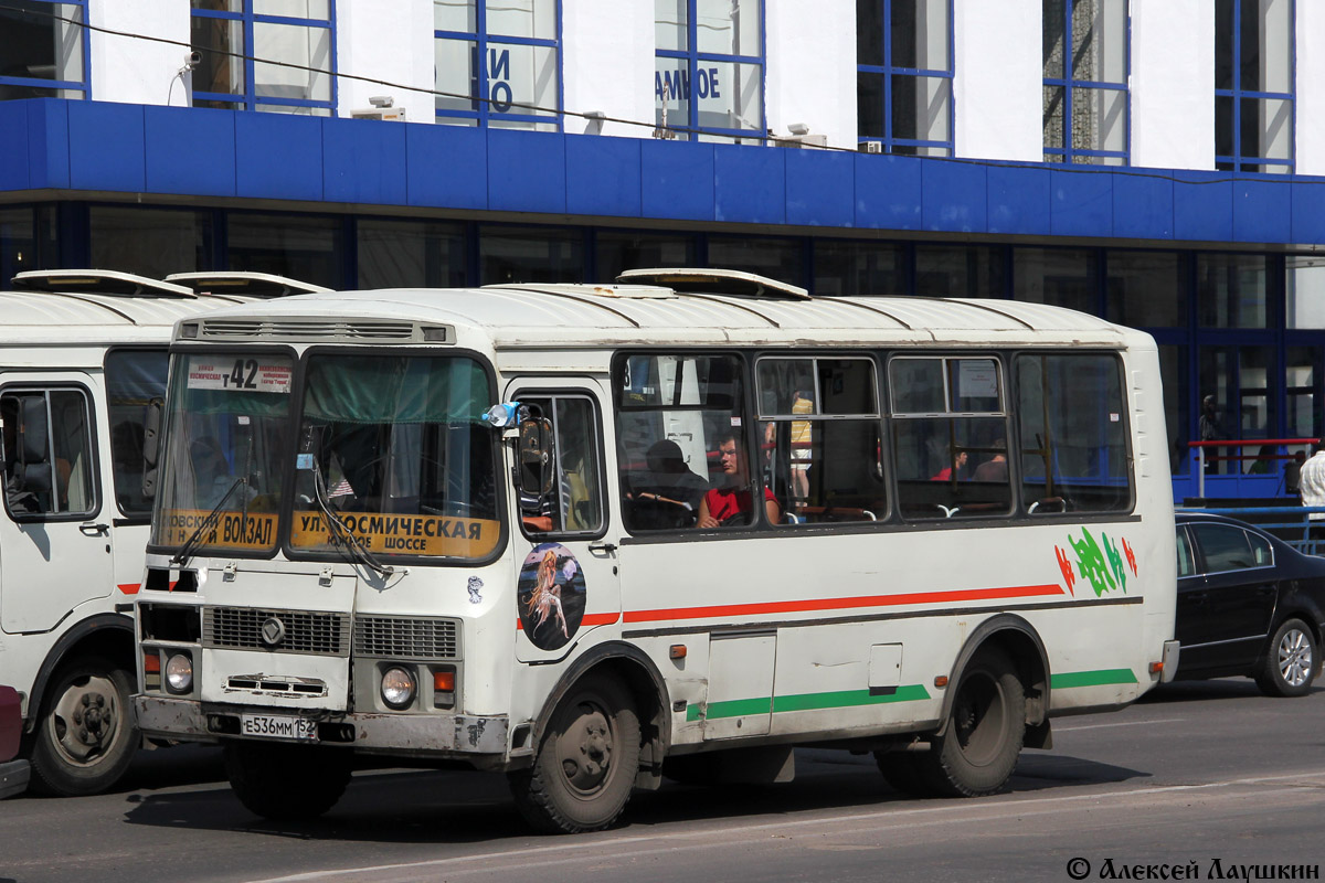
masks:
[[[203,646],[344,657],[350,651],[348,622],[346,613],[207,608]]]

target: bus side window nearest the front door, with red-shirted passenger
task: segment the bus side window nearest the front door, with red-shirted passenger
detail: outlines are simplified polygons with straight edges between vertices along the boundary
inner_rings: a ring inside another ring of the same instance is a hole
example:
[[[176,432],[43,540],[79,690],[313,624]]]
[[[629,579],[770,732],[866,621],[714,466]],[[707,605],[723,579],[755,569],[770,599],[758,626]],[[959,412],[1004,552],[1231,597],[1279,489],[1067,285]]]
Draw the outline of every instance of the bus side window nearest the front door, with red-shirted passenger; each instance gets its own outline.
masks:
[[[616,443],[628,531],[694,528],[706,506],[721,514],[719,527],[749,526],[755,494],[766,514],[780,511],[768,487],[759,490],[762,470],[751,467],[742,384],[733,356],[653,352],[617,360]]]

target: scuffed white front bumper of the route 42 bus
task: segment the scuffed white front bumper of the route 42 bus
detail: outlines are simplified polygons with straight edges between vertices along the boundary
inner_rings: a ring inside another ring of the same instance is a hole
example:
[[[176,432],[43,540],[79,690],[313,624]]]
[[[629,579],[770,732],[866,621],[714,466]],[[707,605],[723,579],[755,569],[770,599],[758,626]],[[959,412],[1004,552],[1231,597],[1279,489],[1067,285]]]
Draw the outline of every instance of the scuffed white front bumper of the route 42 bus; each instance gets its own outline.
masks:
[[[144,736],[182,741],[250,739],[238,733],[241,714],[295,714],[277,708],[203,704],[195,699],[144,695],[134,696],[134,711],[138,712],[138,728]],[[298,716],[319,724],[335,724],[338,737],[321,739],[321,744],[343,744],[358,751],[420,757],[473,759],[474,755],[505,755],[510,729],[507,719],[497,715],[321,712]]]

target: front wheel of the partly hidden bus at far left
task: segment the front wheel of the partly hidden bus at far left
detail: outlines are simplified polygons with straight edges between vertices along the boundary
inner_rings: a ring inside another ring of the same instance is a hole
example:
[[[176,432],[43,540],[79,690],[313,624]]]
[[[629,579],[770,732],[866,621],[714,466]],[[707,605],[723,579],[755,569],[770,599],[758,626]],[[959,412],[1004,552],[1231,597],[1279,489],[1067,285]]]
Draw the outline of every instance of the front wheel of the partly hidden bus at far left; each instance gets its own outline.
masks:
[[[77,797],[113,786],[129,769],[138,727],[129,704],[132,678],[102,657],[61,666],[32,741],[32,788]]]

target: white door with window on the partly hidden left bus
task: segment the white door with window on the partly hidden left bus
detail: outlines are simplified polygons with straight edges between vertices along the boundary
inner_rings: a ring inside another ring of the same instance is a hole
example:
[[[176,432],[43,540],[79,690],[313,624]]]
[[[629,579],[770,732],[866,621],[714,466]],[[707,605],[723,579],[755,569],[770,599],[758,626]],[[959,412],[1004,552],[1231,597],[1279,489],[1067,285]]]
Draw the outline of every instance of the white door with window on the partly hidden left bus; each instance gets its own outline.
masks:
[[[97,388],[81,372],[8,375],[0,385],[7,633],[49,631],[80,604],[110,593],[111,518],[93,430]]]

